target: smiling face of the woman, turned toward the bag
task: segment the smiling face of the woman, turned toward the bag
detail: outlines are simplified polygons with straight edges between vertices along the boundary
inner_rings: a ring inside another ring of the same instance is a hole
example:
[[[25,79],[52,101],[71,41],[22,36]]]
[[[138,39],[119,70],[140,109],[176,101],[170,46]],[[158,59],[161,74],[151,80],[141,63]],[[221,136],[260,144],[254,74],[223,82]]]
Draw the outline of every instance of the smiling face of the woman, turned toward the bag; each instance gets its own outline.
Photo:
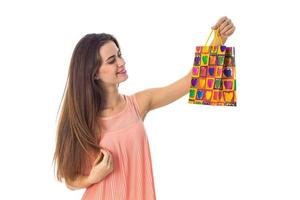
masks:
[[[127,80],[125,61],[113,41],[109,41],[101,47],[100,56],[102,65],[96,78],[100,78],[105,85],[117,85]]]

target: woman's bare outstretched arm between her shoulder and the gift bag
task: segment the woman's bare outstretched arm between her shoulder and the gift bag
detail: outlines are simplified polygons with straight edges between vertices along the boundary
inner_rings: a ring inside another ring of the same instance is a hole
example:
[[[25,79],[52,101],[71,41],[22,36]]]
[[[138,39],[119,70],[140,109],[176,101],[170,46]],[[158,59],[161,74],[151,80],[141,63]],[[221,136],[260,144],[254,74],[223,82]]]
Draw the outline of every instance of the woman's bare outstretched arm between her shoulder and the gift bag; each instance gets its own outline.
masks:
[[[153,109],[168,105],[189,92],[191,72],[178,81],[160,88],[151,88],[135,94],[140,108],[140,115],[144,119]]]

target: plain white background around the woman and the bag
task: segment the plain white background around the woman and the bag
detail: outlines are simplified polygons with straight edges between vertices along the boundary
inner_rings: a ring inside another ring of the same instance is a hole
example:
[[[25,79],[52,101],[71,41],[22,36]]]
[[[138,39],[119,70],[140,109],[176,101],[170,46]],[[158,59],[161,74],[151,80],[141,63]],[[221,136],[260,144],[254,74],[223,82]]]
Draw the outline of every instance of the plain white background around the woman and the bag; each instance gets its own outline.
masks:
[[[0,199],[80,199],[57,182],[56,114],[73,48],[87,33],[119,40],[120,92],[165,86],[192,67],[222,16],[236,28],[238,106],[150,112],[157,199],[300,199],[296,1],[1,1]]]

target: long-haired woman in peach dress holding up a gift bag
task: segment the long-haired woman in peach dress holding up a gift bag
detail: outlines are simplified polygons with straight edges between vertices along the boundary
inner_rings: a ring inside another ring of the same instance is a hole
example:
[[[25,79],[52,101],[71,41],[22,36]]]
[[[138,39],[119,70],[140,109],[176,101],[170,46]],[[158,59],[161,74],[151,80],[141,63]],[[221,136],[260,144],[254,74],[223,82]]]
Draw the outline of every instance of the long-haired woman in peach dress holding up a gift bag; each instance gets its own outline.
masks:
[[[221,18],[223,42],[235,30]],[[161,88],[120,94],[127,80],[118,41],[109,34],[88,34],[76,45],[57,127],[54,161],[59,181],[86,188],[82,197],[155,199],[151,156],[143,120],[149,111],[187,94],[191,72]]]

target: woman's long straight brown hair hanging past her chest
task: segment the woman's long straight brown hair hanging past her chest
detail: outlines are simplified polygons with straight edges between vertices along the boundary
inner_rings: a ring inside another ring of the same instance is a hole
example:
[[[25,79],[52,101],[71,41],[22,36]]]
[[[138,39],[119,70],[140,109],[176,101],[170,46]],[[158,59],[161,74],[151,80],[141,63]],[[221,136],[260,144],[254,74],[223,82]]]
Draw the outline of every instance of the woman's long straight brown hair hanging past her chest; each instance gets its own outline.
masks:
[[[97,116],[106,103],[106,95],[101,80],[95,80],[95,76],[102,64],[100,48],[109,41],[120,48],[115,37],[101,33],[85,35],[73,51],[63,105],[59,106],[53,157],[59,181],[74,181],[83,173],[87,160],[100,152]]]

